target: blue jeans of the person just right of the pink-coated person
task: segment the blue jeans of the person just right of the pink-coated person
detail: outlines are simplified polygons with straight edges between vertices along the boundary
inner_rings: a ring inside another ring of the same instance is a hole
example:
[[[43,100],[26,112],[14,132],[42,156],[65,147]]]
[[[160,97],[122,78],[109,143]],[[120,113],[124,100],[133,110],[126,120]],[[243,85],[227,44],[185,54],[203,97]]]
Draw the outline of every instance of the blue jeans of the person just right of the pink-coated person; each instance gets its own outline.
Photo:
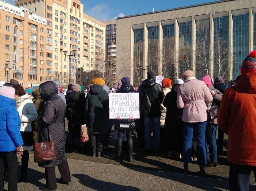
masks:
[[[211,161],[217,161],[217,143],[216,143],[216,130],[217,125],[211,126],[209,123],[206,125],[206,159],[209,159],[209,154],[211,154]],[[209,144],[209,149],[208,149]],[[210,153],[209,153],[210,150]]]

